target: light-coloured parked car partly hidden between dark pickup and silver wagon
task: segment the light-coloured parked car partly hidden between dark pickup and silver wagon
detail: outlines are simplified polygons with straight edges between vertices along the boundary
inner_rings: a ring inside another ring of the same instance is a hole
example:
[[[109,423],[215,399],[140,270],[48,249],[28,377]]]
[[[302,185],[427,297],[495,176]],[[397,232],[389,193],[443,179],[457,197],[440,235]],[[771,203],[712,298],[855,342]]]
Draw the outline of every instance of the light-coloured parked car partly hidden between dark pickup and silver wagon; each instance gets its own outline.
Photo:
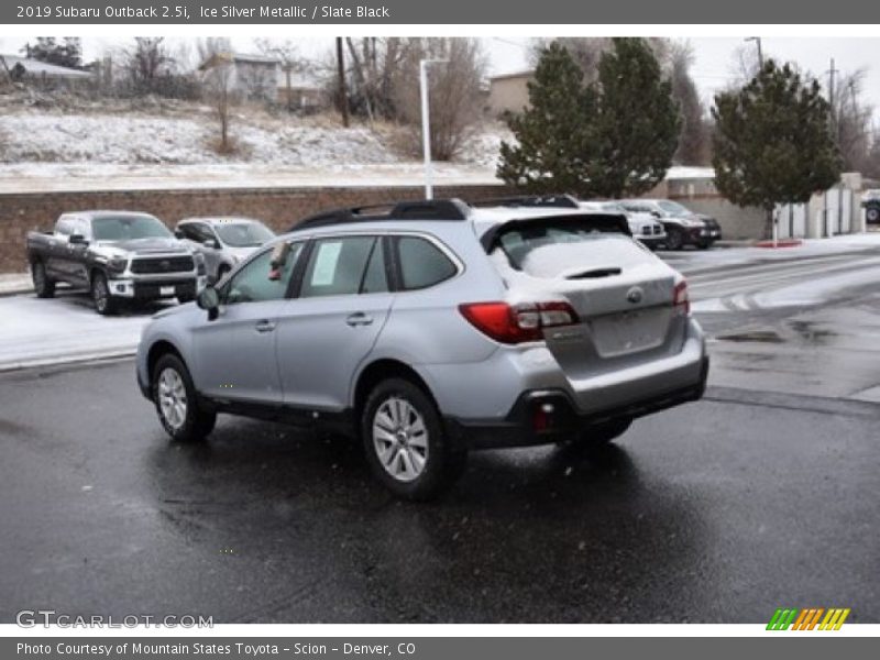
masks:
[[[174,230],[205,256],[210,282],[222,279],[235,264],[275,238],[275,232],[252,218],[186,218]]]

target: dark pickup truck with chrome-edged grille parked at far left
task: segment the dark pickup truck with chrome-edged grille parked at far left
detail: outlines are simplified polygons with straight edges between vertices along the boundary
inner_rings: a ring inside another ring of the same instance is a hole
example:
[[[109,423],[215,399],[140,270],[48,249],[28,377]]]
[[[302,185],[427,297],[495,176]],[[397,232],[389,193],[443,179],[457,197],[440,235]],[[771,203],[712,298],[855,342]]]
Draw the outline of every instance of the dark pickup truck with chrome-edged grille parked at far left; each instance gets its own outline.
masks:
[[[64,282],[91,294],[98,314],[123,300],[195,299],[205,286],[205,257],[155,217],[130,211],[64,213],[55,231],[28,234],[36,295],[51,298]]]

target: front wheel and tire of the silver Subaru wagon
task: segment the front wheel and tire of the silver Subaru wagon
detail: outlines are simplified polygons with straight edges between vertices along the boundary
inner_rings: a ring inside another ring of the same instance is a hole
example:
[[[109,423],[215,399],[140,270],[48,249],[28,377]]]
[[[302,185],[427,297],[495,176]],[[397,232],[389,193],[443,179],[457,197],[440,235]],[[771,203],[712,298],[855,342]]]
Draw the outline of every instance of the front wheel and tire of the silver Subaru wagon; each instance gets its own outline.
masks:
[[[204,440],[217,424],[217,414],[198,405],[198,394],[184,362],[166,353],[156,362],[151,380],[153,403],[162,428],[177,442]]]

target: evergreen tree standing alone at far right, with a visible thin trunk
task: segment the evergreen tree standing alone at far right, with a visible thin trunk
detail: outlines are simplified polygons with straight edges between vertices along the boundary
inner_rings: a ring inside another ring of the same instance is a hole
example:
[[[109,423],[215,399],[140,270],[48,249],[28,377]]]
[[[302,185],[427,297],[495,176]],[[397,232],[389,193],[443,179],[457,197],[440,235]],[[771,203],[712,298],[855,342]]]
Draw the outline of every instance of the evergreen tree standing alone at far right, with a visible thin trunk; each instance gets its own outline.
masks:
[[[831,107],[816,80],[805,84],[771,59],[738,90],[715,97],[712,109],[715,186],[739,206],[765,209],[765,235],[779,204],[804,204],[840,177],[831,136]]]

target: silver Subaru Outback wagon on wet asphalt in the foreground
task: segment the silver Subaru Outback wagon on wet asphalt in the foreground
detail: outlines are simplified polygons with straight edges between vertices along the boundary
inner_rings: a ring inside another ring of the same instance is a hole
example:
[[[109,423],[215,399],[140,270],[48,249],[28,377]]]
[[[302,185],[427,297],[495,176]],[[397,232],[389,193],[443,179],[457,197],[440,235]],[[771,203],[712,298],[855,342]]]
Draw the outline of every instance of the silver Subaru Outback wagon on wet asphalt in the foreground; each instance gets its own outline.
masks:
[[[698,399],[708,359],[684,278],[620,215],[558,198],[316,216],[197,305],[157,314],[138,381],[173,439],[217,413],[360,437],[426,498],[471,449],[603,443]]]

